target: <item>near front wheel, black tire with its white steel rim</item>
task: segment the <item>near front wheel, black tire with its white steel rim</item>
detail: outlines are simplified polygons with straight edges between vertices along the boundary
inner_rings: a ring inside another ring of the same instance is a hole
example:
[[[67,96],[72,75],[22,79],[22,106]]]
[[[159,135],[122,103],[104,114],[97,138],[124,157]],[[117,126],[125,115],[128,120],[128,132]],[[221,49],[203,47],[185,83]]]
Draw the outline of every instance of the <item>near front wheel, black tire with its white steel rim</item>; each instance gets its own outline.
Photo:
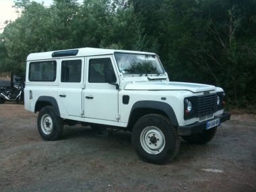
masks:
[[[180,147],[177,128],[168,118],[158,114],[141,117],[133,127],[131,141],[137,154],[154,164],[170,162]]]

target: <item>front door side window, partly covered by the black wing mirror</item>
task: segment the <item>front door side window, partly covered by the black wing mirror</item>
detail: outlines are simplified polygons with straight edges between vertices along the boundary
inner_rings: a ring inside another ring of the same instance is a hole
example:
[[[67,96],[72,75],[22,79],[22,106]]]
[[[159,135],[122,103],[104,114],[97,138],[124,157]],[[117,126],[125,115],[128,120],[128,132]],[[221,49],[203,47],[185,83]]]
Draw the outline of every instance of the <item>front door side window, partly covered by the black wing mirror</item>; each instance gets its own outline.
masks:
[[[110,58],[90,59],[88,82],[106,83],[105,72],[107,70],[114,71]],[[113,73],[113,75],[115,75],[115,73]],[[114,79],[117,81],[116,77],[114,77]]]

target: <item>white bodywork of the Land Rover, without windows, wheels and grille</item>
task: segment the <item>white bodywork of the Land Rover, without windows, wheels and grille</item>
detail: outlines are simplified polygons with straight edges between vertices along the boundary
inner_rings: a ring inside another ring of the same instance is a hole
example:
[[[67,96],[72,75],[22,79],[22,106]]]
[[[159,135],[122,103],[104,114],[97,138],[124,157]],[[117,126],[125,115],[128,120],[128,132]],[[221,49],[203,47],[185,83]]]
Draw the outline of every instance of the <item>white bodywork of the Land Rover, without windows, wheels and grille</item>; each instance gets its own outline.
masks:
[[[185,121],[185,97],[203,95],[205,91],[212,94],[223,92],[223,90],[205,84],[169,82],[167,73],[160,75],[123,75],[119,72],[115,57],[113,57],[115,52],[147,55],[154,55],[154,53],[92,48],[77,50],[79,52],[73,57],[53,58],[53,51],[28,55],[26,88],[24,90],[26,110],[35,112],[38,98],[40,96],[50,96],[57,101],[59,112],[63,119],[119,127],[127,127],[133,104],[141,100],[165,102],[171,106],[179,126],[212,119],[215,115],[223,113],[223,110],[218,110],[212,117],[205,117],[204,120],[193,118]],[[117,77],[119,90],[112,84],[88,82],[88,63],[90,59],[97,58],[110,58]],[[74,59],[82,60],[81,82],[61,82],[61,62]],[[36,61],[57,62],[56,79],[54,82],[30,82],[28,78],[30,63]],[[129,96],[128,104],[123,104],[124,95]],[[166,99],[162,100],[163,97]]]

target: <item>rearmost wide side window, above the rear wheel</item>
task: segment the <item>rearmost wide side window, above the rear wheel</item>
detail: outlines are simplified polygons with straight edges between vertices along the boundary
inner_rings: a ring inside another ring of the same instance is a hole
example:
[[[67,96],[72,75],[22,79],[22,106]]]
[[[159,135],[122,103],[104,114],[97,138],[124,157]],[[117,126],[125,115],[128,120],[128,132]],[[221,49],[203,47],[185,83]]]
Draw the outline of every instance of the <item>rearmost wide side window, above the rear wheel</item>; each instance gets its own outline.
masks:
[[[55,82],[56,61],[31,62],[28,73],[30,82]]]

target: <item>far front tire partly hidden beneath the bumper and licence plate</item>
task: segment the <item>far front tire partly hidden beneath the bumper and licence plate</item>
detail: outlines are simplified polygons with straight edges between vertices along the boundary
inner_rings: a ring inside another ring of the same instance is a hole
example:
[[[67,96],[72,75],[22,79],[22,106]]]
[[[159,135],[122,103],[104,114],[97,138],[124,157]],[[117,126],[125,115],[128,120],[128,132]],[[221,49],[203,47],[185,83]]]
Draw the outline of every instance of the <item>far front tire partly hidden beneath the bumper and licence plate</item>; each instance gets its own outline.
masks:
[[[212,140],[216,131],[217,131],[217,127],[213,127],[211,129],[204,130],[203,133],[197,133],[197,134],[186,135],[181,137],[188,143],[203,145]]]

